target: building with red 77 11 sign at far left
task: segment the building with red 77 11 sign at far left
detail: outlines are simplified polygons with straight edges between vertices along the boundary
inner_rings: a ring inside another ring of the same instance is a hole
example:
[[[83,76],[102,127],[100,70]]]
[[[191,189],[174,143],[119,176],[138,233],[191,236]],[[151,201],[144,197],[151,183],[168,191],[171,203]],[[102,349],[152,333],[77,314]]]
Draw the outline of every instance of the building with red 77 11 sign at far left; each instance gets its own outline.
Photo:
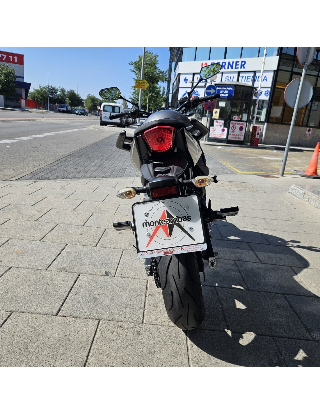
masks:
[[[14,96],[0,95],[0,107],[19,107],[20,98],[28,98],[29,89],[31,83],[24,82],[24,55],[18,53],[11,53],[0,51],[0,64],[6,63],[8,66],[12,66],[16,72],[17,90]]]

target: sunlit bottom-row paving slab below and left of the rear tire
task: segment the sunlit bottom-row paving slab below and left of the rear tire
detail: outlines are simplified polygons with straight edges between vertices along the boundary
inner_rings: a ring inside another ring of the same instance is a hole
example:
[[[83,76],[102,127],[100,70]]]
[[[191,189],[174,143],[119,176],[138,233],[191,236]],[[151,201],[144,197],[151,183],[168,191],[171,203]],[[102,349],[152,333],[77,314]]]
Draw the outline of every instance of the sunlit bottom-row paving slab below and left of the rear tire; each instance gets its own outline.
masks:
[[[186,336],[177,327],[101,321],[86,366],[189,366]]]

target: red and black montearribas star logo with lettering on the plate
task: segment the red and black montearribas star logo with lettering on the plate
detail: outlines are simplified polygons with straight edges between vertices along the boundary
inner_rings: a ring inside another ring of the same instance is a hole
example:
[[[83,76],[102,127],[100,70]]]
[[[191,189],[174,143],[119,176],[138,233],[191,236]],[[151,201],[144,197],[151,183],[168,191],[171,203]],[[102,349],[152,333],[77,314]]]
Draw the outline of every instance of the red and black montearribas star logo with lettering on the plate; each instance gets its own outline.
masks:
[[[160,236],[160,238],[163,239],[163,233],[164,233],[167,238],[171,238],[175,229],[178,230],[174,234],[175,238],[178,237],[179,234],[181,234],[181,232],[183,232],[186,236],[189,236],[194,241],[195,239],[180,224],[184,221],[191,221],[191,216],[182,216],[182,215],[173,216],[166,208],[163,210],[160,216],[160,219],[157,219],[154,221],[144,221],[142,223],[143,228],[154,227],[153,233],[150,236],[150,240],[148,241],[146,248],[149,246],[149,244],[151,243],[151,241],[154,239],[156,235]],[[160,231],[160,229],[163,232]]]

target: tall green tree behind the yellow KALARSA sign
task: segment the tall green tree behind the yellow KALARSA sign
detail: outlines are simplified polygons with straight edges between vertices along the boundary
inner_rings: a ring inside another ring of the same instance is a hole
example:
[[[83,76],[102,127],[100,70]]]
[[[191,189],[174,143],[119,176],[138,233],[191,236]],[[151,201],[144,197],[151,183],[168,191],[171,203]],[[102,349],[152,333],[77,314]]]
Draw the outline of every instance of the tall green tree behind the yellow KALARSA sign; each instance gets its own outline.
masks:
[[[149,86],[148,88],[142,90],[142,99],[141,107],[149,111],[153,109],[160,108],[165,102],[165,94],[161,87],[158,86],[158,83],[163,83],[168,81],[168,70],[160,70],[158,67],[158,55],[153,54],[150,51],[146,51],[144,58],[144,70],[143,70],[143,79],[145,79]],[[141,76],[141,66],[142,66],[142,55],[139,56],[138,60],[134,62],[129,62],[129,65],[133,66],[133,69],[130,69],[134,73],[135,79],[140,79]],[[134,86],[130,96],[130,100],[133,102],[139,102],[139,89]]]

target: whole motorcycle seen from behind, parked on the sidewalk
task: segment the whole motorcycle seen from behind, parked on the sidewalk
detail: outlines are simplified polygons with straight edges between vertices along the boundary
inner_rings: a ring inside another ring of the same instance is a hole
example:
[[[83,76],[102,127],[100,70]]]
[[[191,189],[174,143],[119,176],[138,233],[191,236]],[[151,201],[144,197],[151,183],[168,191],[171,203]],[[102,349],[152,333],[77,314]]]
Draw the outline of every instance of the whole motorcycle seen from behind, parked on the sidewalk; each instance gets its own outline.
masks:
[[[216,267],[208,225],[227,216],[235,216],[239,208],[211,209],[206,203],[205,187],[217,183],[210,177],[199,141],[208,133],[202,123],[191,118],[199,104],[219,99],[220,95],[193,96],[197,85],[212,79],[221,65],[205,66],[198,83],[179,100],[179,107],[167,106],[153,114],[139,110],[137,103],[121,96],[117,87],[101,89],[103,99],[124,99],[132,104],[132,118],[140,122],[133,137],[121,131],[116,147],[130,152],[131,162],[141,173],[141,187],[118,191],[117,197],[132,199],[143,194],[143,202],[132,205],[132,221],[113,223],[114,229],[132,230],[138,257],[144,260],[148,277],[162,290],[167,315],[182,330],[198,327],[205,317],[200,272],[205,280],[203,260]],[[111,115],[110,119],[126,114]]]

